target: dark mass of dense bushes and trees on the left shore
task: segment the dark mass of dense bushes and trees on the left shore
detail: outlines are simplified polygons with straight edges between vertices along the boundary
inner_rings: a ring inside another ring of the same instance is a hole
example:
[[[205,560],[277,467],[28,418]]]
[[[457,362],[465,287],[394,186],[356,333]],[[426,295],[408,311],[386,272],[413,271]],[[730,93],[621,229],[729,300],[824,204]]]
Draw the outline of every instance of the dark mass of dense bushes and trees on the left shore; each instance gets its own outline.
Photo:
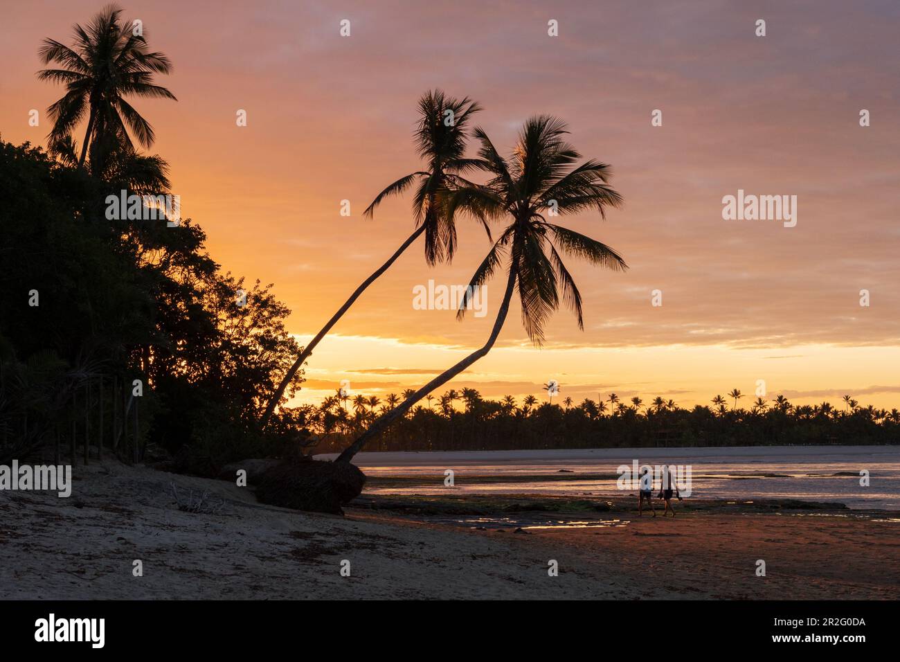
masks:
[[[106,195],[131,184],[0,141],[0,455],[66,431],[99,376],[142,382],[140,435],[173,452],[227,461],[296,431],[256,423],[300,350],[289,311],[221,273],[190,220],[107,219]]]

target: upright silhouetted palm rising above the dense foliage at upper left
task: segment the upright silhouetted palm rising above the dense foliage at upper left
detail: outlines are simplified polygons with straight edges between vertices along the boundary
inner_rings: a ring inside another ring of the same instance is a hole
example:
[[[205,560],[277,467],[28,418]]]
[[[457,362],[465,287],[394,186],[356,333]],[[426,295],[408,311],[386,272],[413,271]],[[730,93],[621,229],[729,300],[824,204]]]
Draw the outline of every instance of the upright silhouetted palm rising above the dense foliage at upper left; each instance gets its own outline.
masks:
[[[53,128],[49,150],[75,150],[72,131],[87,114],[85,139],[81,143],[78,167],[84,166],[90,150],[94,174],[103,171],[103,152],[133,151],[129,131],[145,148],[154,141],[154,131],[124,96],[175,99],[166,87],[153,82],[154,74],[168,74],[172,63],[163,53],[150,52],[143,35],[134,34],[131,24],[121,22],[121,9],[108,5],[87,27],[75,26],[73,48],[45,39],[38,54],[43,64],[60,68],[41,69],[40,80],[66,85],[66,95],[47,109]]]

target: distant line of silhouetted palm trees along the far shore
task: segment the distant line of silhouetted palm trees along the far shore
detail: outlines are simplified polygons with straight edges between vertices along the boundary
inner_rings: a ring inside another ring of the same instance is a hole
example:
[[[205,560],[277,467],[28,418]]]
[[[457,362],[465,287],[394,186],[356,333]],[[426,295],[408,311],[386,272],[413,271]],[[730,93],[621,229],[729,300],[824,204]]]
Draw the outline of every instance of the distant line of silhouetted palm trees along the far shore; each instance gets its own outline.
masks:
[[[739,395],[740,391],[732,392]],[[285,409],[318,443],[313,452],[337,452],[378,417],[392,412],[402,395],[356,395],[345,406],[338,394],[319,406]],[[734,395],[732,395],[734,400]],[[791,404],[784,395],[758,397],[752,405],[729,407],[723,395],[690,409],[656,396],[622,402],[615,393],[563,406],[535,395],[486,399],[478,390],[450,389],[430,394],[434,406],[416,406],[394,420],[370,450],[578,449],[607,447],[755,446],[791,444],[900,443],[900,411],[860,407],[846,395],[844,408]]]

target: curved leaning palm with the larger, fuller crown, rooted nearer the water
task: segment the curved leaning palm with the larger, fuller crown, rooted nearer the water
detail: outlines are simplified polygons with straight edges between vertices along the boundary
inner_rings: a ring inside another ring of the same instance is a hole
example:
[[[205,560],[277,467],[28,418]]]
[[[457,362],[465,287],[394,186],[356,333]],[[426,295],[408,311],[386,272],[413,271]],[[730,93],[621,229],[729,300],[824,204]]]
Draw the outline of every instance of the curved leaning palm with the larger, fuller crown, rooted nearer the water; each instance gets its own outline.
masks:
[[[599,266],[614,270],[626,268],[615,250],[548,222],[545,217],[545,214],[564,215],[589,209],[596,209],[605,217],[608,207],[622,204],[621,196],[607,184],[608,165],[589,160],[572,168],[581,154],[565,141],[566,133],[563,122],[554,117],[533,117],[520,131],[512,156],[504,159],[482,129],[474,131],[481,142],[478,167],[491,178],[483,186],[460,186],[450,193],[447,213],[451,219],[460,210],[482,220],[502,218],[509,222],[475,271],[457,313],[462,318],[470,293],[484,285],[505,263],[506,287],[491,335],[482,348],[432,379],[392,413],[379,417],[338,456],[338,462],[349,462],[368,440],[381,434],[419,399],[485,356],[500,335],[514,291],[518,290],[528,338],[536,345],[544,340],[545,323],[559,307],[561,290],[563,302],[575,313],[583,329],[581,293],[563,264],[560,250]]]

